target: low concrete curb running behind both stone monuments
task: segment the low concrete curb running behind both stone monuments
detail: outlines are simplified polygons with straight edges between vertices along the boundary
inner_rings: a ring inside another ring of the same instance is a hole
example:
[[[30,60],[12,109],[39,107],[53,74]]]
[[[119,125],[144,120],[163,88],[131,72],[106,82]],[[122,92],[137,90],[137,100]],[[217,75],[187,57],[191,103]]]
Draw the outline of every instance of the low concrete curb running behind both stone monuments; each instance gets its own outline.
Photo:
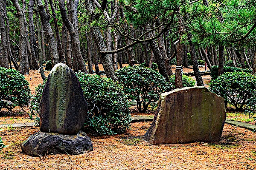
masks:
[[[145,121],[153,121],[154,117],[152,116],[133,116],[131,117],[131,122],[145,122]],[[256,125],[251,125],[249,123],[238,122],[231,119],[226,119],[226,123],[230,125],[235,125],[239,127],[243,127],[248,130],[256,131]],[[32,127],[39,126],[35,122],[28,123],[15,123],[15,124],[3,124],[0,125],[0,128],[13,128],[13,127]]]

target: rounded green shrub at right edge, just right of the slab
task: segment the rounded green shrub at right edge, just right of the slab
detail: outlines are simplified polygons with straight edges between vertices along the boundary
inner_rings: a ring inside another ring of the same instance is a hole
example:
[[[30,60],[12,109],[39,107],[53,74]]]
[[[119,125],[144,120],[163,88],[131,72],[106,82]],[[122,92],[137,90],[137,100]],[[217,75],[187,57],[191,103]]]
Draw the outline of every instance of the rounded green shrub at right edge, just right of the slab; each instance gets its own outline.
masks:
[[[224,97],[226,104],[233,105],[241,111],[256,93],[256,77],[250,73],[225,73],[210,83],[210,90]]]

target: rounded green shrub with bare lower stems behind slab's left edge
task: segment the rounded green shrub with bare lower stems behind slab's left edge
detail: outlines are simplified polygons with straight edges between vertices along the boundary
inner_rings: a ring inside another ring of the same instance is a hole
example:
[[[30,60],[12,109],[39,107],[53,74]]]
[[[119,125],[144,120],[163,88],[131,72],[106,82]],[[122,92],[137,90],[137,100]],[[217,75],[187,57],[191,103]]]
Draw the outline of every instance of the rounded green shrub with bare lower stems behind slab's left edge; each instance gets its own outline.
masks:
[[[137,101],[137,109],[145,113],[151,102],[159,99],[159,94],[170,91],[171,87],[157,71],[146,67],[124,67],[116,71],[119,83],[132,101]]]

